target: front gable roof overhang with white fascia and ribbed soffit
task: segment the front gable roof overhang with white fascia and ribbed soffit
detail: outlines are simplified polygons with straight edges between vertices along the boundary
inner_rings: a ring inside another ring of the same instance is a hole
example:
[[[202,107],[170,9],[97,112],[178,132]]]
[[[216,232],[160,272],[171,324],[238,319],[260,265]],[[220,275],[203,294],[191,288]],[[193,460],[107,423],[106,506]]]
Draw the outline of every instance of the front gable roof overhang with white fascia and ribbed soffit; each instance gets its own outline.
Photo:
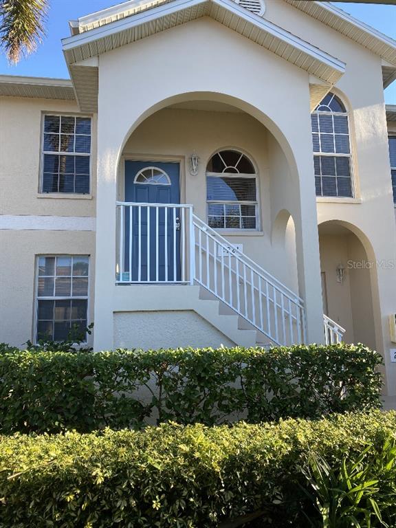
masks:
[[[63,52],[82,111],[96,111],[98,98],[97,67],[84,66],[82,61],[201,17],[211,17],[304,69],[321,83],[325,83],[327,91],[345,71],[345,64],[338,58],[242,8],[232,0],[163,0],[155,5],[154,8],[136,12],[133,16],[104,23],[63,39]],[[96,77],[96,82],[89,82],[86,78],[86,68],[87,75],[91,76],[91,80]]]

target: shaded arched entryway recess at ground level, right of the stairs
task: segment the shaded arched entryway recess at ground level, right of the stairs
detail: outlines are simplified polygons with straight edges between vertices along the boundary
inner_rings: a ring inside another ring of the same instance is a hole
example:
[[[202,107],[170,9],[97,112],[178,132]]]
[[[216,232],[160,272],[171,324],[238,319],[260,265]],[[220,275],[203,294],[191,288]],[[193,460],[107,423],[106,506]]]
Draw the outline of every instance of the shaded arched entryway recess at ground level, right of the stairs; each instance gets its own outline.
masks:
[[[344,340],[377,348],[376,263],[369,241],[353,225],[326,221],[318,228],[323,311],[346,330]]]

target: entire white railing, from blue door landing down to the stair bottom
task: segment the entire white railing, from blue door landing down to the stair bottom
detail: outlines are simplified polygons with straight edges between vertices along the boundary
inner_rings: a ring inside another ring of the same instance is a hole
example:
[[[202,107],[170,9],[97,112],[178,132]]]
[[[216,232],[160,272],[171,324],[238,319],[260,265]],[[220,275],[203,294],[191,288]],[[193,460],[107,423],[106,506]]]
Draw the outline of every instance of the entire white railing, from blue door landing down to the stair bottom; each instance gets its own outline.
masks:
[[[199,285],[275,344],[306,342],[303,299],[192,212],[172,203],[117,202],[118,284]],[[327,344],[344,329],[323,316]]]

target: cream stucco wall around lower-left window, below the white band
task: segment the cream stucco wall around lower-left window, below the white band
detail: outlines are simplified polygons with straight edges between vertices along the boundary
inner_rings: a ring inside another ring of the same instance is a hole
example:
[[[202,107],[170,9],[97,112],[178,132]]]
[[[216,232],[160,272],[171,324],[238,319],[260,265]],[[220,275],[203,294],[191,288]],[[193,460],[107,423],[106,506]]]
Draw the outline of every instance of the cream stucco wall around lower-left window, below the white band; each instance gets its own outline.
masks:
[[[0,342],[34,339],[35,259],[40,254],[89,255],[89,322],[94,320],[94,232],[0,230]]]

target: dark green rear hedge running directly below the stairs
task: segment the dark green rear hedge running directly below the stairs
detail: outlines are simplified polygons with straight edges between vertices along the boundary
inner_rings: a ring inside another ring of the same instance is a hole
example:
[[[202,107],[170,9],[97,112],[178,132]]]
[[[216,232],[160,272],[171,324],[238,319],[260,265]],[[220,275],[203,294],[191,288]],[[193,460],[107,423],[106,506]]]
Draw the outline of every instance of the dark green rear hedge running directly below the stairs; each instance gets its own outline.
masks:
[[[0,354],[0,432],[318,418],[380,406],[362,345]]]

